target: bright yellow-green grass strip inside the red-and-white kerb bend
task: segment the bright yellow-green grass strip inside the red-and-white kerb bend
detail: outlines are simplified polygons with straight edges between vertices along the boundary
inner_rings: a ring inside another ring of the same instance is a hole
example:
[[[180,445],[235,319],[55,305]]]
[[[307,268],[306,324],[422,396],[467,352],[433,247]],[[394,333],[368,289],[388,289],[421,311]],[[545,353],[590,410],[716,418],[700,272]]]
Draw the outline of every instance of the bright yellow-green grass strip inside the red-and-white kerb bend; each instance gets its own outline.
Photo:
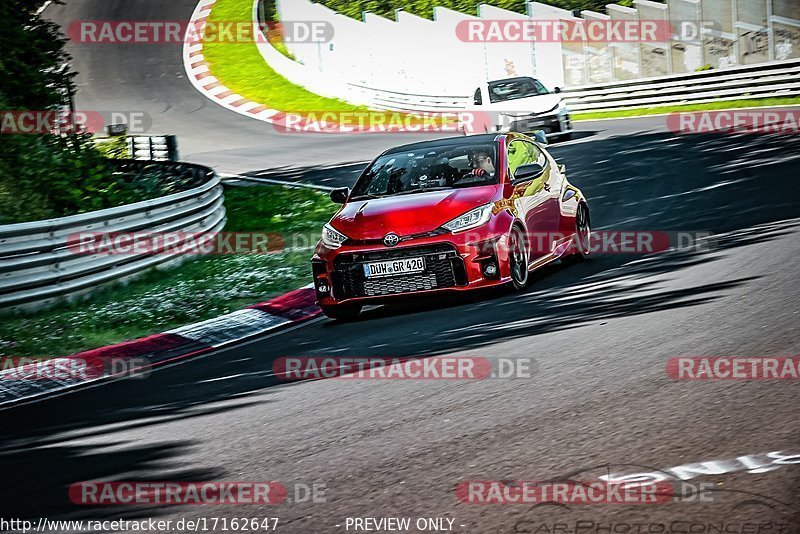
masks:
[[[251,20],[253,0],[217,0],[209,22]],[[301,111],[367,111],[295,85],[267,65],[255,43],[207,42],[203,55],[209,69],[232,91],[273,109]]]

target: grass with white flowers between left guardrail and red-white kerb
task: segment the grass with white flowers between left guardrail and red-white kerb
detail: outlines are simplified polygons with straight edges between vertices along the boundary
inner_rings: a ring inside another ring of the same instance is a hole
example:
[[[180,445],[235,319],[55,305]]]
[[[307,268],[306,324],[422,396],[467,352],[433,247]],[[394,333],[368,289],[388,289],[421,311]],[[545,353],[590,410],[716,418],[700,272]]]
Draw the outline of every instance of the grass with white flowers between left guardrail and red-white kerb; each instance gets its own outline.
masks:
[[[336,206],[320,192],[229,188],[226,232],[315,235]],[[0,322],[0,356],[64,356],[209,319],[311,280],[310,250],[216,255],[153,271],[88,301]]]

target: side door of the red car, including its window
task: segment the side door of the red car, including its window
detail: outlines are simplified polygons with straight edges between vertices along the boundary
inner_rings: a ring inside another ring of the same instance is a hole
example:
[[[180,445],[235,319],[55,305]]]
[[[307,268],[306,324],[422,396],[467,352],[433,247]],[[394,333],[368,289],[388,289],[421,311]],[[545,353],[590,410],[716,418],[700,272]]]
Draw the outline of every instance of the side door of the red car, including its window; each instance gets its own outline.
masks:
[[[508,144],[508,175],[521,165],[538,163],[544,172],[537,178],[513,185],[514,206],[517,215],[525,223],[530,246],[530,258],[536,260],[552,250],[558,231],[558,186],[560,176],[551,158],[537,145],[522,139]]]

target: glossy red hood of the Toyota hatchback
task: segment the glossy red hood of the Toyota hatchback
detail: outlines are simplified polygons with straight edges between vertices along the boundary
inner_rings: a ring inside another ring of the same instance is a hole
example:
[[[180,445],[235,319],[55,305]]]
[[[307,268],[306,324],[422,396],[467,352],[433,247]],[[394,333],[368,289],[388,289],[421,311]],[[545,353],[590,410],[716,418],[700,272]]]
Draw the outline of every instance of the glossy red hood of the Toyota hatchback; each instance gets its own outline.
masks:
[[[459,215],[491,202],[500,186],[487,185],[351,201],[331,225],[351,239],[382,239],[430,232]]]

